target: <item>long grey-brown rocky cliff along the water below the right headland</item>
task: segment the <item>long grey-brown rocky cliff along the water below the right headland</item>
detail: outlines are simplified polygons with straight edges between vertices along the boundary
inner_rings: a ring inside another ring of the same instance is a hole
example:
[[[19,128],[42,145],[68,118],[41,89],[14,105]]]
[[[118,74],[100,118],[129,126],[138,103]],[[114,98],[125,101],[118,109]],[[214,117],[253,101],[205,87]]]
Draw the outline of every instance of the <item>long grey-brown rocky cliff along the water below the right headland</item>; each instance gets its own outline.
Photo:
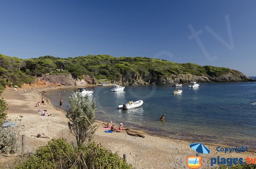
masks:
[[[227,74],[218,77],[197,76],[193,74],[177,74],[171,76],[154,76],[154,74],[127,73],[122,75],[117,83],[125,85],[147,85],[147,84],[173,84],[173,83],[213,83],[213,82],[250,82],[255,81],[239,71],[231,70]]]

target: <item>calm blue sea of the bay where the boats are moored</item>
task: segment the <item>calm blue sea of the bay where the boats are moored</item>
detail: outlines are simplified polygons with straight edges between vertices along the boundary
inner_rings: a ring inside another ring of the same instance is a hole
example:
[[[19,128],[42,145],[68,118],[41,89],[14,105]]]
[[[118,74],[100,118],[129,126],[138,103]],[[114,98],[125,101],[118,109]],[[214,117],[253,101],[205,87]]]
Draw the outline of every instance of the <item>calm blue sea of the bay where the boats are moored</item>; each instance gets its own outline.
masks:
[[[256,79],[256,77],[252,77]],[[87,87],[93,90],[97,119],[123,123],[124,127],[141,129],[151,135],[171,137],[191,142],[221,143],[256,149],[256,82],[200,83],[199,88],[183,84],[180,95],[172,85],[125,86],[123,92],[111,92],[112,86]],[[64,90],[64,91],[63,91]],[[44,97],[67,110],[68,97],[77,88],[58,88]],[[143,105],[120,110],[123,103],[143,100]],[[51,112],[54,114],[54,112]],[[165,120],[160,121],[164,115]]]

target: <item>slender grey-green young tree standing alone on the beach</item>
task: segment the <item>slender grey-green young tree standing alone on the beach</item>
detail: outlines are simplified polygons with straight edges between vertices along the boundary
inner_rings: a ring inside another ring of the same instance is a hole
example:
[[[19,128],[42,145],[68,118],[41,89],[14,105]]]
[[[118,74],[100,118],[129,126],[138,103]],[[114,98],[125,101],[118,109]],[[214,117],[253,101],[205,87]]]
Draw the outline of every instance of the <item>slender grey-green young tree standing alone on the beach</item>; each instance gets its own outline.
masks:
[[[76,143],[81,146],[87,139],[90,141],[96,130],[96,102],[80,93],[72,94],[68,99],[70,106],[67,110],[68,127],[76,137]]]

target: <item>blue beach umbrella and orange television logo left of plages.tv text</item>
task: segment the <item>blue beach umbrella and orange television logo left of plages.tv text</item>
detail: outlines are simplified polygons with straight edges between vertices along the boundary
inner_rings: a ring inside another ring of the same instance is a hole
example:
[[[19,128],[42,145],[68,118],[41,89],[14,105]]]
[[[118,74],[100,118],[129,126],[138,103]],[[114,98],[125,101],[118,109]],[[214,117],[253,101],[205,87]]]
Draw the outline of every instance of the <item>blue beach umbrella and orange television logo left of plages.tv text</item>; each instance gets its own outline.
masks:
[[[198,169],[202,166],[202,158],[199,154],[209,154],[210,150],[202,143],[190,143],[189,146],[196,153],[195,156],[187,157],[187,166],[190,169]]]

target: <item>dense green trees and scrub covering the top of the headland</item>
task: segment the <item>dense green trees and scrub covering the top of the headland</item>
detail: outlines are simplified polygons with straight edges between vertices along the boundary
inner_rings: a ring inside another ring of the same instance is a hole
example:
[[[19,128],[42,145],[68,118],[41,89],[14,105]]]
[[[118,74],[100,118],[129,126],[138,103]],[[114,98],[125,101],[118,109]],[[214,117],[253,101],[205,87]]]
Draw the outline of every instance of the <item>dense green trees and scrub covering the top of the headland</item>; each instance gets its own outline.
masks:
[[[96,79],[118,80],[124,74],[151,74],[163,77],[173,74],[193,74],[218,77],[231,69],[200,66],[194,63],[174,63],[149,57],[113,57],[109,55],[87,55],[79,57],[43,56],[19,59],[0,54],[0,90],[4,86],[33,83],[34,77],[42,74],[72,74],[81,79],[90,74]]]

